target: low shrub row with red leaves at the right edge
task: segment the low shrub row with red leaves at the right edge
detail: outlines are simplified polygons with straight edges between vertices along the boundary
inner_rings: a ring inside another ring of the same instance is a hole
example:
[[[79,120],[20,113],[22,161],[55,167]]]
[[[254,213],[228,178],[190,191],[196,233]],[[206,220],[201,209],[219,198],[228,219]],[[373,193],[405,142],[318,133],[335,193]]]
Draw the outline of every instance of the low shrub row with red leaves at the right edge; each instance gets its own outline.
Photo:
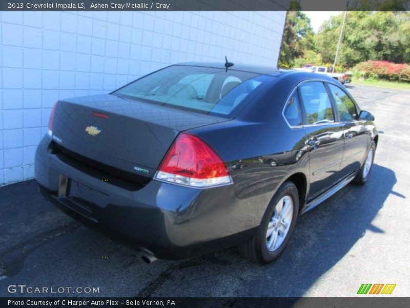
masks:
[[[368,60],[356,64],[352,70],[356,77],[364,79],[410,82],[410,65],[404,63]]]

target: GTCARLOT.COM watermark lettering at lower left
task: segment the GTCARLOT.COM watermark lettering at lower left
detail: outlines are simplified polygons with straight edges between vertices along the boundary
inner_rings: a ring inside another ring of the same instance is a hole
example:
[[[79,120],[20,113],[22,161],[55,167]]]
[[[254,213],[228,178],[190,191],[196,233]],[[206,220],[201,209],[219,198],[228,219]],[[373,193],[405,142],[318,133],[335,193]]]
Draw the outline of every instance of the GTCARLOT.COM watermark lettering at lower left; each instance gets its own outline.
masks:
[[[99,287],[90,286],[27,286],[25,284],[10,284],[7,287],[9,293],[17,294],[94,294],[99,293]]]

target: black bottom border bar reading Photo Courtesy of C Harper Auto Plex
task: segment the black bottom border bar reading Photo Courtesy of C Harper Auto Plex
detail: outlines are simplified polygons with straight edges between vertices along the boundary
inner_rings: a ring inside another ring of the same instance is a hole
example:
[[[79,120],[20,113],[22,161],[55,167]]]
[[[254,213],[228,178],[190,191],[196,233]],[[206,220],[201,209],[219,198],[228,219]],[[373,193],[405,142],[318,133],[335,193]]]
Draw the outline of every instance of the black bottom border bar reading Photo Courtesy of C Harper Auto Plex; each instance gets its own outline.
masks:
[[[70,302],[71,301],[71,302]],[[97,304],[93,304],[97,303]],[[150,304],[147,304],[150,301]],[[152,302],[154,301],[154,303]],[[158,303],[156,303],[158,302]],[[50,304],[51,303],[51,304]],[[3,297],[0,307],[52,307],[52,308],[98,308],[98,307],[240,307],[240,308],[408,308],[409,297],[368,296],[356,297],[152,297],[152,298],[125,298],[125,297]]]

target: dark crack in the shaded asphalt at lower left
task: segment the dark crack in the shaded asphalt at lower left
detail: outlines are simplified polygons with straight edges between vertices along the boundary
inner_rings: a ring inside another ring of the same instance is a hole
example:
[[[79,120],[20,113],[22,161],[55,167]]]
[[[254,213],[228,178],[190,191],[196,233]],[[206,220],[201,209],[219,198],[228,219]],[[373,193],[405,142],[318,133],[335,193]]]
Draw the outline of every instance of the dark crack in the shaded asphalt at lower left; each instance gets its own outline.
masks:
[[[26,258],[37,248],[63,235],[74,232],[78,227],[78,224],[70,223],[50,229],[6,249],[6,251],[0,253],[0,277],[4,279],[17,275],[23,269]]]

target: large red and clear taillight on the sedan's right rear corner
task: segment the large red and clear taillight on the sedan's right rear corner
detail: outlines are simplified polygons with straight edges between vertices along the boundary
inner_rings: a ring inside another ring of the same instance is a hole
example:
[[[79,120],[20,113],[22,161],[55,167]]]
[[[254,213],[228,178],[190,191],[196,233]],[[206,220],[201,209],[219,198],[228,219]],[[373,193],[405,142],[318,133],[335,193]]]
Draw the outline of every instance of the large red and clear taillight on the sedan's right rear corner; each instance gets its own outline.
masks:
[[[181,133],[159,167],[157,179],[208,187],[231,182],[226,164],[197,136]]]

